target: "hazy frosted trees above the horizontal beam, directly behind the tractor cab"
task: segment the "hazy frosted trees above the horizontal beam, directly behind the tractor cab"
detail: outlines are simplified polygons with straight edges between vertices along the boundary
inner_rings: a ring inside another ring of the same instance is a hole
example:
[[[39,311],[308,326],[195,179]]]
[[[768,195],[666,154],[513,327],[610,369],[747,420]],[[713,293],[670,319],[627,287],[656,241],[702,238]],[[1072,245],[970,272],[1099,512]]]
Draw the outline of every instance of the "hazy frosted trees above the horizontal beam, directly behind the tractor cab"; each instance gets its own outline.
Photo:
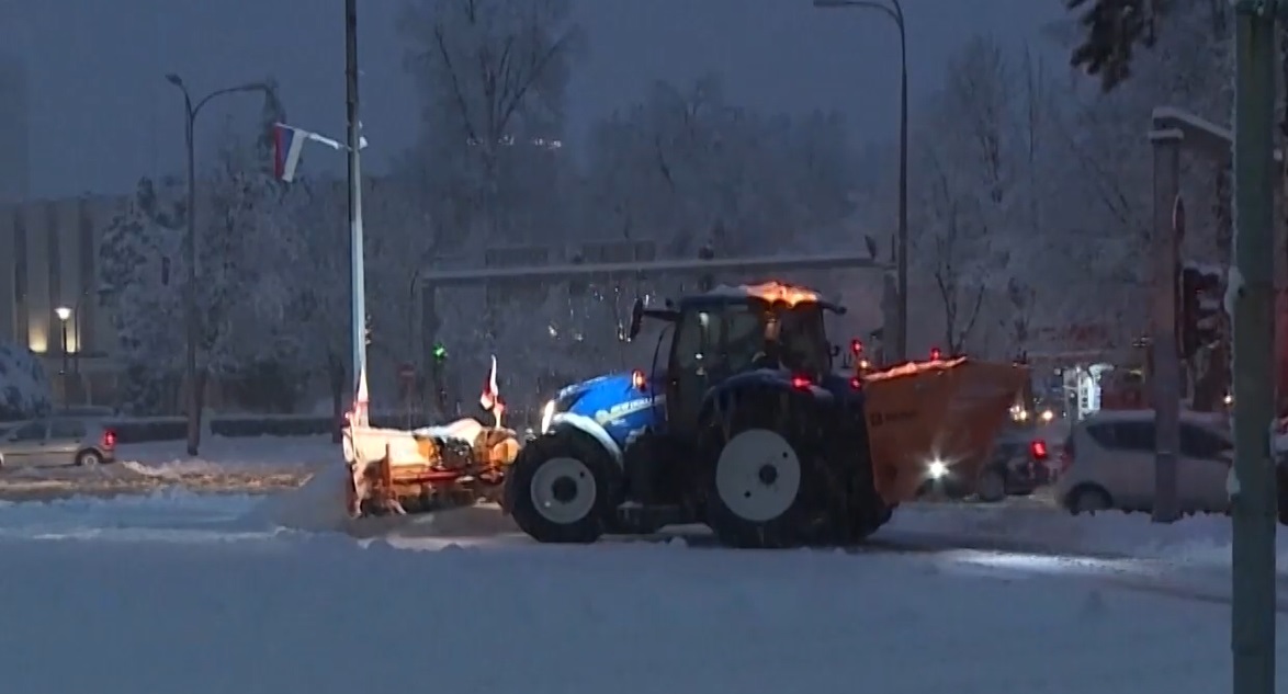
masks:
[[[854,210],[855,169],[836,115],[755,113],[711,76],[658,82],[596,125],[587,218],[608,227],[600,237],[652,238],[667,255],[774,252],[831,241]]]

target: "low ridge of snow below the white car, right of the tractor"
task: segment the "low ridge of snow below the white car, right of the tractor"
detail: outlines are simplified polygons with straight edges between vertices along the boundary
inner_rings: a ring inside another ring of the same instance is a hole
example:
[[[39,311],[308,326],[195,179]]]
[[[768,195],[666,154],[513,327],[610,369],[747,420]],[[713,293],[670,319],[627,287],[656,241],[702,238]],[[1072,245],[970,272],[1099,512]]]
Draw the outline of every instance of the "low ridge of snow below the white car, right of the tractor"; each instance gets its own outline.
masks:
[[[1188,564],[1229,565],[1231,523],[1199,515],[1155,524],[1149,514],[1103,512],[1073,516],[1051,509],[967,505],[908,505],[895,511],[886,533],[933,534],[971,542],[1014,542],[1052,551],[1114,554]],[[1288,536],[1276,537],[1288,565]]]

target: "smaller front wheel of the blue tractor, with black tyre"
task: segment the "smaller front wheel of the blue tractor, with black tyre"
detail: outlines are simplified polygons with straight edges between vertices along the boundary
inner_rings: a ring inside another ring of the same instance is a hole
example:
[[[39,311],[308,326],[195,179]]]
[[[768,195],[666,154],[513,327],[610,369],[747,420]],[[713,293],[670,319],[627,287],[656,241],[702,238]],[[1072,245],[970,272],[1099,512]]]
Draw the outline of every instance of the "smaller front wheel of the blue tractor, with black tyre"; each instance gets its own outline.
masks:
[[[590,543],[621,503],[622,471],[586,434],[556,430],[528,443],[505,480],[505,509],[537,542]]]

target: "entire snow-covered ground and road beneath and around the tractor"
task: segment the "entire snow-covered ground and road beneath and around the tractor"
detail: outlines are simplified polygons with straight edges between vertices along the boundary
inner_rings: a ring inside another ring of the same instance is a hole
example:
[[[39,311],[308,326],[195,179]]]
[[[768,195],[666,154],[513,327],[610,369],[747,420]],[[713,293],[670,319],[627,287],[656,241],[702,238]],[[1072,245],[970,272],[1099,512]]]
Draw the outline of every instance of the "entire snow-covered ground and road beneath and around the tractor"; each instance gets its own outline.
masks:
[[[215,439],[202,461],[182,444],[122,449],[121,470],[180,484],[0,502],[6,694],[1207,694],[1230,681],[1225,518],[1158,528],[1033,502],[909,505],[857,550],[739,552],[696,528],[549,547],[486,507],[345,521],[331,444],[267,443],[272,455]],[[290,492],[192,492],[319,465]]]

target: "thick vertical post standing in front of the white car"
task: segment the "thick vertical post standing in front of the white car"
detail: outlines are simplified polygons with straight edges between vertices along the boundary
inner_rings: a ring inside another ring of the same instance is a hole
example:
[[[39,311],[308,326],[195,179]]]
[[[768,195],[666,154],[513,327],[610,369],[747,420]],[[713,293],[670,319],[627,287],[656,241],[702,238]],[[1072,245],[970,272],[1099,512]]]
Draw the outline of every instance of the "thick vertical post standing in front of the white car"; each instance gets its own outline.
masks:
[[[1181,187],[1180,130],[1154,130],[1154,232],[1150,251],[1154,260],[1154,305],[1150,373],[1154,400],[1154,523],[1180,518],[1176,488],[1176,461],[1181,447],[1181,359],[1177,349],[1176,303],[1180,238],[1177,193]]]

